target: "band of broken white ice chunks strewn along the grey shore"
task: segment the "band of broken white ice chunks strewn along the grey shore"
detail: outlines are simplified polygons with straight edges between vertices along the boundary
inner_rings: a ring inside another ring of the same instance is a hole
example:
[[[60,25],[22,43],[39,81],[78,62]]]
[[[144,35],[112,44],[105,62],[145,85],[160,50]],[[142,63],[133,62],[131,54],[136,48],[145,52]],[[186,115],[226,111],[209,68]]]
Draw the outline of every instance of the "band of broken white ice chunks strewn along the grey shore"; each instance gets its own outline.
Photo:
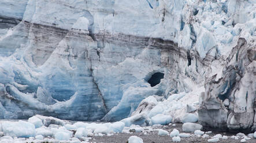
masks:
[[[158,121],[160,120],[161,118],[158,119]],[[29,118],[28,121],[1,121],[0,142],[86,143],[93,142],[95,137],[110,137],[114,134],[131,134],[128,138],[129,143],[143,142],[142,138],[132,136],[132,133],[144,135],[157,133],[158,136],[169,136],[169,142],[180,142],[190,137],[206,138],[207,142],[218,142],[228,139],[240,142],[256,140],[256,131],[250,134],[238,133],[235,136],[225,136],[221,134],[214,135],[212,131],[202,131],[202,126],[198,123],[184,123],[180,131],[175,129],[176,125],[173,123],[161,123],[162,125],[156,124],[153,126],[125,126],[124,121],[113,123],[72,123],[72,121],[64,121],[51,116],[35,115]],[[171,126],[172,129],[165,129],[166,126]]]

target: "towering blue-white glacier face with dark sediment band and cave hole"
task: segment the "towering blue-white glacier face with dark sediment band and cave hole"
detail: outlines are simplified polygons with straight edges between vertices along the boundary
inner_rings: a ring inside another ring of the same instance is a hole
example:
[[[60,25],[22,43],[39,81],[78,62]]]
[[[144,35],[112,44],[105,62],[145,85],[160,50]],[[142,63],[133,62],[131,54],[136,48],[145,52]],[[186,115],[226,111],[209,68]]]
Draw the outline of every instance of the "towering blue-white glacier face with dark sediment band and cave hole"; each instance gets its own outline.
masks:
[[[213,94],[218,106],[217,93],[227,92],[220,100],[232,100],[225,121],[233,127],[247,122],[232,116],[250,91],[251,106],[241,112],[250,114],[251,126],[255,80],[250,89],[243,83],[255,79],[255,50],[250,60],[233,59],[243,69],[239,81],[225,68],[235,64],[226,59],[240,37],[255,49],[255,15],[255,0],[2,0],[0,118],[118,121],[146,97],[191,92],[216,75],[221,82],[206,82],[205,96]],[[226,73],[231,77],[221,78]],[[242,90],[224,85],[231,82]]]

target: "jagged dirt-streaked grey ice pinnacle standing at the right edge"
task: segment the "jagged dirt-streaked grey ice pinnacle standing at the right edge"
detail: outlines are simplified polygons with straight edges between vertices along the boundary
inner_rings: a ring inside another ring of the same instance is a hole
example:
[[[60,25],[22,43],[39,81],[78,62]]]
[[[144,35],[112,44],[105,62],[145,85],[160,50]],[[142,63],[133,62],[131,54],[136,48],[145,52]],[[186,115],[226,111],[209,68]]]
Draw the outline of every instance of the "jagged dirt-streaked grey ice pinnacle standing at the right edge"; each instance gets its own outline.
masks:
[[[226,59],[222,77],[207,79],[198,110],[199,123],[206,129],[255,130],[255,47],[255,42],[239,38]]]

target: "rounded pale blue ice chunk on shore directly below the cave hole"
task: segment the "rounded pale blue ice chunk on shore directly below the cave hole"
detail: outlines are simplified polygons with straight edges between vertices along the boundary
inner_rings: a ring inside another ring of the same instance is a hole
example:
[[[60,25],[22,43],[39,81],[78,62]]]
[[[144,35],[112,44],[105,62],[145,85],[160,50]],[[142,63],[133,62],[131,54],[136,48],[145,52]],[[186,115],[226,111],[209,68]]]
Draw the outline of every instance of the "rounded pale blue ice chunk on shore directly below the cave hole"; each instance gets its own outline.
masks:
[[[172,116],[164,115],[164,114],[157,114],[151,118],[152,125],[160,124],[160,125],[168,125],[172,122]]]

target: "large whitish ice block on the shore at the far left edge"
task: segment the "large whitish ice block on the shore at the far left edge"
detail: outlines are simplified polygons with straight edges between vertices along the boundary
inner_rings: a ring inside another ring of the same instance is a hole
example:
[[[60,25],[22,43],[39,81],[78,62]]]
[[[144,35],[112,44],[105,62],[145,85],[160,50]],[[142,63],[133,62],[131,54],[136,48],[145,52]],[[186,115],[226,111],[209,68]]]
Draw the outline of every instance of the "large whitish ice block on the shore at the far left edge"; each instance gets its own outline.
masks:
[[[25,121],[2,123],[2,130],[5,135],[12,137],[35,137],[35,125]]]

